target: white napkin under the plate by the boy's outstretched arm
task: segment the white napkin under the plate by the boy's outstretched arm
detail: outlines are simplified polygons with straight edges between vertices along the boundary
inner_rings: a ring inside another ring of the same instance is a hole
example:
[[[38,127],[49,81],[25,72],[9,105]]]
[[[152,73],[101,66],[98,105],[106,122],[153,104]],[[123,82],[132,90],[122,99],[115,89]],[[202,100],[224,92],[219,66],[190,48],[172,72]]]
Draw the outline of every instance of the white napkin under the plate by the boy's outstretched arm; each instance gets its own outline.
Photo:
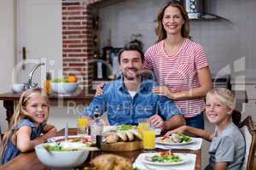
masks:
[[[175,150],[200,150],[203,139],[201,139],[201,138],[192,138],[192,140],[194,142],[191,143],[191,144],[183,144],[183,145],[155,144],[155,147],[160,148],[162,150],[170,150],[170,149],[175,149]]]

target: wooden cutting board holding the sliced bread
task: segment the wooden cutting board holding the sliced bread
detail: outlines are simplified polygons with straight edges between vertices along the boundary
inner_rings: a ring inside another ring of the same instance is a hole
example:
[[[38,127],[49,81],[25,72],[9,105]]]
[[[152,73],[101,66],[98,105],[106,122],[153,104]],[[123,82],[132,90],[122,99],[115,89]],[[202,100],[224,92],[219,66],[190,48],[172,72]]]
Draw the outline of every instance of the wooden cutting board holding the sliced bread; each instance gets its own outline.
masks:
[[[143,141],[135,140],[131,142],[117,142],[113,144],[102,144],[102,150],[106,151],[130,151],[143,148]]]

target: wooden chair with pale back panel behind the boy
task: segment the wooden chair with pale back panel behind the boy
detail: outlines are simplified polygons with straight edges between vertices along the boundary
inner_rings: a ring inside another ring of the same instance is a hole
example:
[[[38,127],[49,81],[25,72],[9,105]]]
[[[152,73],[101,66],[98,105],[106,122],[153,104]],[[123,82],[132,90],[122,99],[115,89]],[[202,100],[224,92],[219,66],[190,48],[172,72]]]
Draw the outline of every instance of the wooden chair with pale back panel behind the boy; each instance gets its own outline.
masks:
[[[238,127],[240,128],[246,143],[246,153],[241,170],[251,170],[253,169],[254,153],[256,149],[256,130],[254,128],[252,116],[247,116],[238,124]]]

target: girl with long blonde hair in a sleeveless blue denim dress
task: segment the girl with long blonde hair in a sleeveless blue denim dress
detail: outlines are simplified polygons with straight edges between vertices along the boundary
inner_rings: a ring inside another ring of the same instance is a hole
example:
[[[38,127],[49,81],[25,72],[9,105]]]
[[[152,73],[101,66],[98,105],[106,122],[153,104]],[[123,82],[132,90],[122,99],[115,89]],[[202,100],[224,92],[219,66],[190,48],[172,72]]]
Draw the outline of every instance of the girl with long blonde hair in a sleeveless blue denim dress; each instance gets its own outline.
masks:
[[[28,89],[21,94],[10,128],[3,136],[2,164],[55,136],[55,127],[46,123],[48,116],[49,100],[40,88]]]

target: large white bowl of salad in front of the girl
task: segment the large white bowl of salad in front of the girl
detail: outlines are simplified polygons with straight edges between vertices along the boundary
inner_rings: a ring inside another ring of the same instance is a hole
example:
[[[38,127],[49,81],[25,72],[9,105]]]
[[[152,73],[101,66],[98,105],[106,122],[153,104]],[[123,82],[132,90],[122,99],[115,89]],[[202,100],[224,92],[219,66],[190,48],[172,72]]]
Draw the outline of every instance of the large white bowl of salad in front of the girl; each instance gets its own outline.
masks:
[[[47,167],[71,168],[78,167],[87,159],[90,150],[86,150],[88,145],[61,142],[38,144],[35,147],[39,161]]]

